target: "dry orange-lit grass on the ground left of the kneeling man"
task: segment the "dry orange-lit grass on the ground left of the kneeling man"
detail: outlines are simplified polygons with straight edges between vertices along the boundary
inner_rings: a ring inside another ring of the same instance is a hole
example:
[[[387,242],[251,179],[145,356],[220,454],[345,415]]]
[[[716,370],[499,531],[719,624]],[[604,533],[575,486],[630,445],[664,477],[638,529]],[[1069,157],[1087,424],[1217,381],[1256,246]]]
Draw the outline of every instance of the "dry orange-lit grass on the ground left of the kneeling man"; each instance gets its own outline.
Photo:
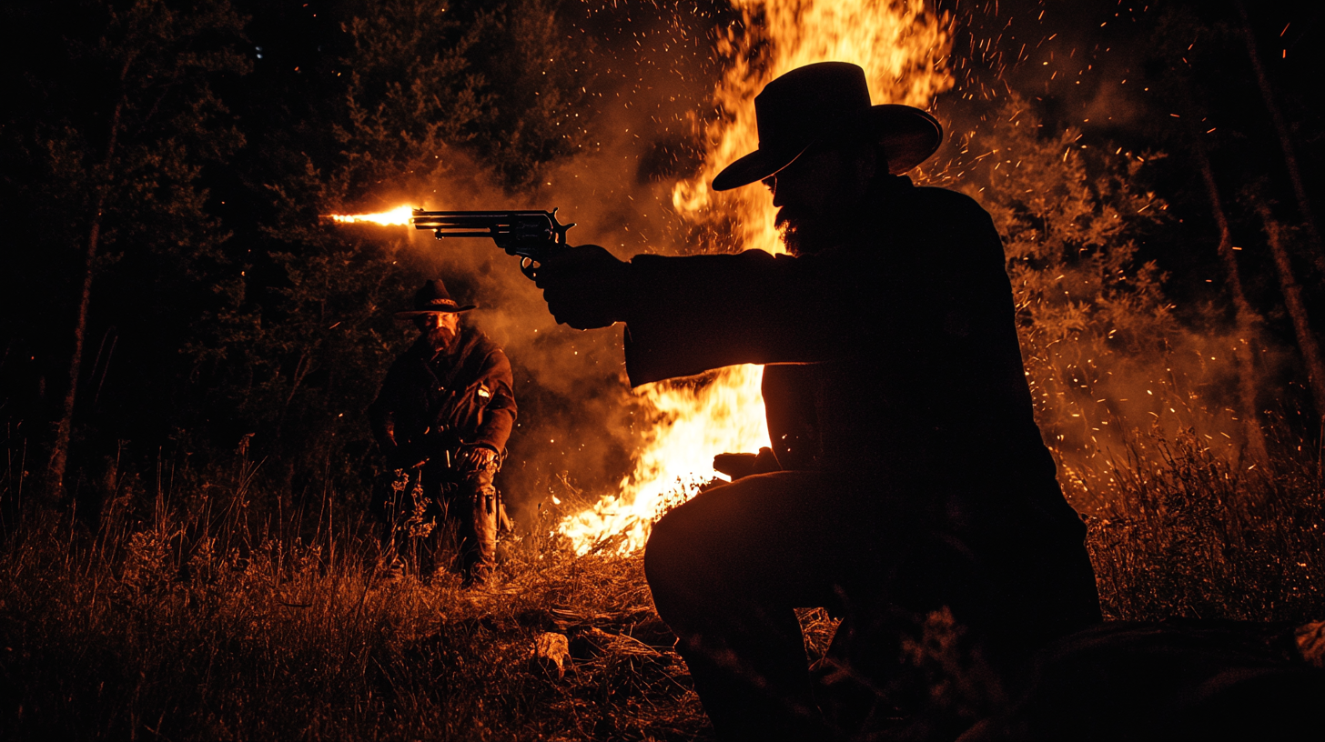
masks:
[[[394,575],[368,542],[216,553],[162,521],[0,556],[0,738],[697,739],[639,558],[507,546],[505,582]],[[211,539],[217,541],[216,538]],[[533,659],[570,639],[564,677]]]

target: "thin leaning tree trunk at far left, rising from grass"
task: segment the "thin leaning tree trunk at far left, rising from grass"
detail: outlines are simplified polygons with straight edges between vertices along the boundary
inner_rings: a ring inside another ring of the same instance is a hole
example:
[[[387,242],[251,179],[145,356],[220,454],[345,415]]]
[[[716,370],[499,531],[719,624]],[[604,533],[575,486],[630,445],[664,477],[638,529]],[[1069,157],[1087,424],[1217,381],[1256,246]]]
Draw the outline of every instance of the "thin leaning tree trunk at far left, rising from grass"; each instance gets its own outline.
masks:
[[[121,72],[119,81],[123,83],[129,77],[129,61]],[[56,504],[65,494],[65,470],[69,466],[69,439],[73,432],[74,403],[78,400],[78,375],[82,370],[83,343],[87,335],[87,309],[91,305],[91,277],[97,262],[97,249],[101,244],[102,209],[106,207],[106,193],[110,188],[110,170],[115,159],[115,140],[119,136],[119,118],[125,110],[126,94],[121,94],[115,102],[115,109],[110,114],[110,132],[106,138],[106,160],[95,184],[97,195],[93,199],[91,225],[87,228],[87,241],[83,250],[82,281],[78,290],[78,309],[74,313],[73,351],[69,356],[69,383],[65,388],[65,399],[60,405],[60,419],[56,420],[56,435],[50,444],[50,461],[46,466],[45,497],[48,504]]]

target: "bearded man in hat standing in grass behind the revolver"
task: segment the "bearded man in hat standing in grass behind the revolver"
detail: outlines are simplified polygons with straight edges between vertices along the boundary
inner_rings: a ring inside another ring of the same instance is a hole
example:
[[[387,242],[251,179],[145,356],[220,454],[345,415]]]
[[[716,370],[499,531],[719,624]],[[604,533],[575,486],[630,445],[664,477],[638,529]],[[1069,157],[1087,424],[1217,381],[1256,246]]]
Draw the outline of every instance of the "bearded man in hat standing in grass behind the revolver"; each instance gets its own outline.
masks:
[[[413,309],[395,314],[413,321],[419,339],[391,364],[368,408],[387,466],[396,470],[394,492],[375,504],[388,539],[407,529],[431,537],[435,549],[433,529],[453,522],[464,587],[486,583],[497,567],[493,476],[515,423],[506,354],[460,322],[476,306],[457,305],[440,280],[424,284]]]

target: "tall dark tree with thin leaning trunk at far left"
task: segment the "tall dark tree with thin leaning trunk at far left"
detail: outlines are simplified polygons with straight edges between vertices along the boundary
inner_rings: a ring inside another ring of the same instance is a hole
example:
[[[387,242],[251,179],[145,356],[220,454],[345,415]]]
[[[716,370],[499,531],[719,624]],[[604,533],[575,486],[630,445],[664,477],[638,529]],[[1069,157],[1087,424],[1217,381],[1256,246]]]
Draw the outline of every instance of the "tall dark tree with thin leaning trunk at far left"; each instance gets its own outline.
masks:
[[[19,164],[5,188],[32,225],[26,233],[54,250],[44,272],[54,282],[41,289],[70,292],[74,305],[58,330],[68,346],[46,344],[68,359],[50,412],[45,493],[56,500],[65,492],[99,281],[123,262],[178,289],[200,261],[217,258],[224,235],[207,213],[200,172],[242,143],[211,89],[217,76],[246,69],[235,48],[242,19],[225,0],[49,3],[5,15],[37,33],[61,29],[33,45],[49,44],[44,54],[11,70],[17,107],[5,127],[7,159]],[[41,225],[58,227],[44,233]]]

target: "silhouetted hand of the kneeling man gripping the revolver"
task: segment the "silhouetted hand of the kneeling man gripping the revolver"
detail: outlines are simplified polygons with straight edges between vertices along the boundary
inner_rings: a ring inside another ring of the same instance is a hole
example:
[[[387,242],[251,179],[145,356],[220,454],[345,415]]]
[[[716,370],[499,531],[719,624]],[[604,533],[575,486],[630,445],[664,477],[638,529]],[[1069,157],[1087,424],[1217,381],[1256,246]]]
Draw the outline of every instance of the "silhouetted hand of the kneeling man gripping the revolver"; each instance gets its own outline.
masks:
[[[534,281],[559,325],[576,330],[624,322],[631,294],[631,264],[598,245],[555,250],[541,262]]]

